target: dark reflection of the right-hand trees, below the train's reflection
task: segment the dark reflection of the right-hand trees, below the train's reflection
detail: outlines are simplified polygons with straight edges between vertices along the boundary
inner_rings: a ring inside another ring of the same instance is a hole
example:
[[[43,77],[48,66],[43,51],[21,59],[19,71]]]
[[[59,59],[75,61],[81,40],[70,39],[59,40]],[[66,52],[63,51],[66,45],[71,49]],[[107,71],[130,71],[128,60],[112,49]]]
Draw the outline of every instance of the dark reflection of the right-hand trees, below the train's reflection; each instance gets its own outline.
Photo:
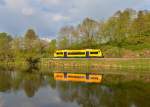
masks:
[[[77,102],[82,107],[150,106],[150,84],[148,82],[128,80],[126,76],[121,75],[105,77],[108,77],[109,80],[105,78],[103,84],[58,81],[56,87],[63,101]],[[123,78],[125,80],[119,82]]]

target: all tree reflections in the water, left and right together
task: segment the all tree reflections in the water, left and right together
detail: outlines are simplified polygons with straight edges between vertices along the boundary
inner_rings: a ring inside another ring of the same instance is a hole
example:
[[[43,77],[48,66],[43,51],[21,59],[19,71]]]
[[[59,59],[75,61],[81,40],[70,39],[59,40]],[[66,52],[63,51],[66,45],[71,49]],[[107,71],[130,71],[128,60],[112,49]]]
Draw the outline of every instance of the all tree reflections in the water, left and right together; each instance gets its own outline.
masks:
[[[26,96],[33,97],[41,87],[49,86],[63,102],[76,102],[82,107],[150,106],[149,75],[106,74],[103,83],[91,84],[55,81],[52,72],[40,72],[0,70],[0,92],[24,90]]]

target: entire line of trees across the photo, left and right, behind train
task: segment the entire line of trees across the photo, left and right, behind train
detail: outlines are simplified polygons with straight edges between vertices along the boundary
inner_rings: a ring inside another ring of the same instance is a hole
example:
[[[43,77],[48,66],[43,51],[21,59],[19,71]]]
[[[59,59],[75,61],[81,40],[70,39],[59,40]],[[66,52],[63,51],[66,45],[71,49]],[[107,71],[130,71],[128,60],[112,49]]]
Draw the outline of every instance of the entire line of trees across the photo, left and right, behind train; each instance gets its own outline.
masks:
[[[24,35],[0,33],[0,61],[53,57],[56,49],[97,49],[104,57],[150,57],[150,11],[125,9],[105,20],[85,18],[64,26],[56,39],[40,39],[34,29]]]

